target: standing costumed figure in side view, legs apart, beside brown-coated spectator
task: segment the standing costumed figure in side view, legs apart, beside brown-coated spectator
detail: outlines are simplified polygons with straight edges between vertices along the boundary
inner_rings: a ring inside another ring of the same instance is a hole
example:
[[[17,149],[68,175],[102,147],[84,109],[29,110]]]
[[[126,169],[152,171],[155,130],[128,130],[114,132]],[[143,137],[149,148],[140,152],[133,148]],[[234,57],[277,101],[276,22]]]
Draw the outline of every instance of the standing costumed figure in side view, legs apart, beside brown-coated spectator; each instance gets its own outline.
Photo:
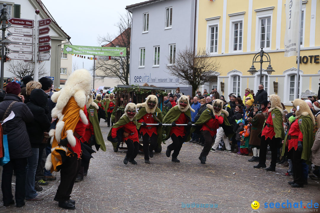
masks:
[[[253,168],[266,168],[266,157],[268,144],[271,150],[271,165],[267,171],[276,171],[277,148],[281,145],[284,139],[283,128],[283,108],[278,95],[270,95],[271,108],[268,110],[266,123],[261,132],[260,143],[260,159],[259,164]]]

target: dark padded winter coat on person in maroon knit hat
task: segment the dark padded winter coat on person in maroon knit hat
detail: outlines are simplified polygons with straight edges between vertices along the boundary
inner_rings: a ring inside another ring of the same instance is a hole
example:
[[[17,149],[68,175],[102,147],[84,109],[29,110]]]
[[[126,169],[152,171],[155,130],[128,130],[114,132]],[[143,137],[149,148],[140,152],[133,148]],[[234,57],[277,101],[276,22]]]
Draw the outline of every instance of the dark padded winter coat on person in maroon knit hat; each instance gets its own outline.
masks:
[[[4,112],[13,101],[17,102],[13,104],[11,110],[9,110],[9,114],[13,111],[15,116],[12,120],[9,120],[4,124],[4,134],[7,134],[8,137],[10,159],[25,158],[32,156],[25,122],[31,122],[33,120],[33,115],[27,105],[22,103],[20,97],[13,94],[6,94],[4,96],[4,101],[0,103],[1,120],[4,116]]]

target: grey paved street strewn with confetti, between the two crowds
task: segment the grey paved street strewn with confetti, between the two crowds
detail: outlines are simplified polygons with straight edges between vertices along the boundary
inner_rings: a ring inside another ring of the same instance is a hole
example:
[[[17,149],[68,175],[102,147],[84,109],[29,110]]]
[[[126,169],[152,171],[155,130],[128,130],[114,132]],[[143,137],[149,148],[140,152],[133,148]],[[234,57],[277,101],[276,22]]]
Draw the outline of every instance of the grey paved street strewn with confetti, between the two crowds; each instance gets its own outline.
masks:
[[[260,202],[259,212],[267,212],[278,209],[265,209],[266,202],[288,200],[293,205],[302,201],[306,205],[311,200],[320,201],[316,197],[319,181],[308,179],[304,188],[292,188],[287,184],[292,178],[281,177],[288,167],[277,164],[275,172],[254,169],[257,162],[247,161],[251,157],[224,151],[210,152],[206,164],[200,164],[198,156],[202,147],[189,142],[181,148],[180,163],[171,162],[171,157],[165,156],[166,146],[172,142],[168,140],[162,144],[162,152],[150,158],[151,164],[145,164],[143,153],[139,152],[135,159],[138,165],[124,165],[125,150],[113,152],[106,140],[110,127],[102,120],[100,126],[107,151],[94,153],[88,175],[84,181],[75,183],[71,194],[71,199],[76,200],[75,210],[61,209],[53,201],[60,183],[60,173],[54,172],[57,180],[50,181],[39,192],[44,201],[26,201],[22,208],[3,207],[1,202],[0,212],[253,212],[253,201]],[[197,204],[203,207],[192,207]],[[187,208],[188,205],[191,207]]]

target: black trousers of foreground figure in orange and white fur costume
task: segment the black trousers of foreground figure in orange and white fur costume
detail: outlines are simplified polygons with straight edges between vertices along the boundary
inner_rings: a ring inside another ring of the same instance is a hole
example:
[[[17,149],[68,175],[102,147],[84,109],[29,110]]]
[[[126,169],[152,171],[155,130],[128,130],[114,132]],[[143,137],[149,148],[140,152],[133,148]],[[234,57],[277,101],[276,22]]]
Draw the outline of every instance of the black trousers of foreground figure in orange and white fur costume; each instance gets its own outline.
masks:
[[[78,171],[80,170],[81,160],[77,156],[67,157],[66,162],[62,164],[60,170],[60,185],[58,186],[55,198],[58,201],[68,201],[76,180]]]

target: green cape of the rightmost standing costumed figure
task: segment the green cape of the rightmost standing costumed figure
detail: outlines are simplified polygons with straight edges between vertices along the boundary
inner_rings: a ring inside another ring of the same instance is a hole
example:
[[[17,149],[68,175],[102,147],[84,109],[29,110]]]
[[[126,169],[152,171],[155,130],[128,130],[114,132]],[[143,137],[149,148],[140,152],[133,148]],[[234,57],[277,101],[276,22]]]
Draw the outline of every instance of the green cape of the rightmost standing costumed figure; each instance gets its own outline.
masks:
[[[302,150],[301,159],[306,160],[307,164],[309,164],[310,163],[309,159],[310,159],[310,155],[311,155],[311,148],[313,145],[313,125],[312,125],[311,117],[309,115],[307,115],[307,116],[301,115],[298,118],[298,121],[294,120],[293,122],[298,122],[298,124],[300,122],[299,129],[300,129],[300,132],[303,134],[303,139],[302,139],[303,140],[302,141],[303,150]],[[291,124],[288,128],[288,132],[291,127]],[[285,141],[287,141],[287,136],[288,136],[288,133],[284,138],[281,156],[284,156]]]

